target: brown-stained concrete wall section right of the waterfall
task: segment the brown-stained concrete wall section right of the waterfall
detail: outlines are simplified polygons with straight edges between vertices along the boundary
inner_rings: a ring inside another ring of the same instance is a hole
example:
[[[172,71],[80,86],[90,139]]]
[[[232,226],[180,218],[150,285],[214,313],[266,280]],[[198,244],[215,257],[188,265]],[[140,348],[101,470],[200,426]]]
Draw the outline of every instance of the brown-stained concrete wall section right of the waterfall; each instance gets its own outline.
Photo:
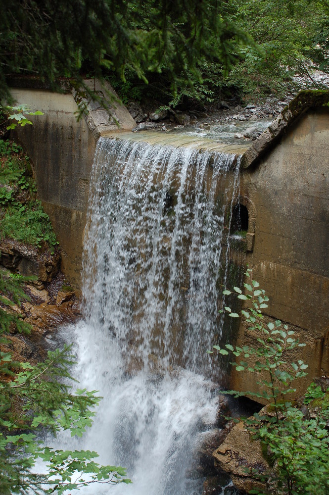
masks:
[[[280,319],[306,347],[309,376],[329,371],[329,109],[309,109],[262,158],[243,170],[241,194],[253,204],[253,278]],[[237,343],[255,344],[240,325]],[[257,390],[259,377],[233,370],[231,387]],[[299,383],[302,392],[307,385]]]

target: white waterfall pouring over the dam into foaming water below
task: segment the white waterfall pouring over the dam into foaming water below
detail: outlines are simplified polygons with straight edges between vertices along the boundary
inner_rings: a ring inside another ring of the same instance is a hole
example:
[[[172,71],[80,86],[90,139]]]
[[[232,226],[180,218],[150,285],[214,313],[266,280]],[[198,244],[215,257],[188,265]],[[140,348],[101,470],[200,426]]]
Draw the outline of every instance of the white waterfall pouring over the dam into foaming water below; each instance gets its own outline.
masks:
[[[188,474],[215,423],[235,154],[100,138],[83,264],[85,318],[74,375],[103,396],[80,448],[122,465],[133,485],[86,493],[201,494]],[[232,319],[233,320],[233,319]],[[85,492],[84,492],[85,493]]]

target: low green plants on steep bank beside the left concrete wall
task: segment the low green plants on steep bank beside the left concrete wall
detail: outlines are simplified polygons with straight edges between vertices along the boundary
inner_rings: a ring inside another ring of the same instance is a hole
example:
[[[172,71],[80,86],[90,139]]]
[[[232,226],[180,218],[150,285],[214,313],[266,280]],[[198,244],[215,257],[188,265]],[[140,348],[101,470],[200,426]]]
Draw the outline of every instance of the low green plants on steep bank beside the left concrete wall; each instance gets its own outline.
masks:
[[[49,217],[36,199],[29,158],[20,146],[0,140],[0,239],[36,247],[58,245]]]

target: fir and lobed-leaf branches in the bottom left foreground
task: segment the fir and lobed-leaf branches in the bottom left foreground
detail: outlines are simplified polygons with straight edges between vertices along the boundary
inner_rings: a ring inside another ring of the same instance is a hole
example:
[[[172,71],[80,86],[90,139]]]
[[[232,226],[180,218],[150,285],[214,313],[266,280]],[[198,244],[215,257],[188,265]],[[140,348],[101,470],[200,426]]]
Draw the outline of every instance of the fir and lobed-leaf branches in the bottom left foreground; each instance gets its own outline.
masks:
[[[1,495],[54,490],[60,495],[91,483],[130,483],[125,469],[95,462],[94,451],[53,449],[41,439],[47,432],[64,430],[81,437],[92,424],[100,397],[96,391],[72,392],[67,385],[72,364],[69,347],[48,351],[47,359],[37,365],[13,362],[9,352],[0,352]],[[38,459],[47,465],[47,474],[31,472]]]

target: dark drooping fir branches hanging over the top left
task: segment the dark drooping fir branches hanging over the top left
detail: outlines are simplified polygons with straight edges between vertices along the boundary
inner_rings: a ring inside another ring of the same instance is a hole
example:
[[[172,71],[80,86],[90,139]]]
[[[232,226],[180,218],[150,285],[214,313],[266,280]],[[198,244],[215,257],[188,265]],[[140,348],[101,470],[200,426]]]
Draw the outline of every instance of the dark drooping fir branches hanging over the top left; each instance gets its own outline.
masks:
[[[58,89],[60,78],[83,85],[83,75],[102,79],[126,70],[146,80],[169,74],[191,85],[199,62],[228,67],[236,43],[254,45],[232,19],[232,2],[217,0],[6,0],[0,18],[0,101],[10,102],[10,76],[30,74]],[[85,88],[89,91],[88,88]]]

